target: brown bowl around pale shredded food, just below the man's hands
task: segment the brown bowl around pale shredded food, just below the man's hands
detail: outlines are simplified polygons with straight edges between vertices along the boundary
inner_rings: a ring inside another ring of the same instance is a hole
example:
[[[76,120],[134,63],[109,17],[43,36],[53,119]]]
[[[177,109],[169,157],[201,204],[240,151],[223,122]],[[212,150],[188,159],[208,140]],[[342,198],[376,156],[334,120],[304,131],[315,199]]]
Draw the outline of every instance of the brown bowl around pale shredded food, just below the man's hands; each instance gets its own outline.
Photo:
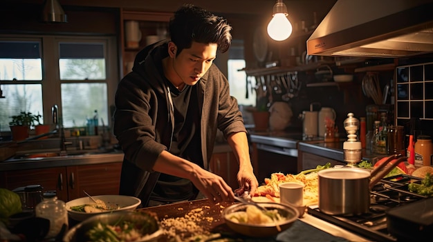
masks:
[[[225,208],[222,212],[222,217],[225,221],[225,223],[228,225],[229,228],[234,230],[234,232],[237,232],[239,234],[243,234],[246,236],[252,236],[252,237],[268,237],[268,236],[275,236],[279,232],[282,232],[284,230],[287,230],[288,228],[293,225],[293,223],[297,220],[299,217],[299,212],[297,208],[294,208],[291,205],[284,205],[281,203],[258,203],[262,207],[266,208],[267,210],[277,210],[278,213],[284,217],[281,221],[277,221],[277,223],[266,223],[266,224],[250,224],[250,223],[241,223],[236,222],[230,219],[230,214],[234,212],[245,212],[247,205],[244,203],[236,203],[233,205],[228,206]],[[279,230],[278,230],[279,227]]]

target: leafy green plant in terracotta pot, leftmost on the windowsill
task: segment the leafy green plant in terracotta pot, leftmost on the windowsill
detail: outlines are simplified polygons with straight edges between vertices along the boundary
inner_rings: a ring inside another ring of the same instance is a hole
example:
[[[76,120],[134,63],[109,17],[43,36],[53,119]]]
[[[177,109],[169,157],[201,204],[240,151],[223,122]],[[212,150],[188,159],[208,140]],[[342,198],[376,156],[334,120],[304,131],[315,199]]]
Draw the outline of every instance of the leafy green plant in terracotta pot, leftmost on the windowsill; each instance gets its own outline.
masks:
[[[38,121],[37,115],[31,112],[20,112],[11,118],[12,121],[9,122],[9,125],[13,141],[27,139],[30,134],[30,126],[34,126],[35,121]]]

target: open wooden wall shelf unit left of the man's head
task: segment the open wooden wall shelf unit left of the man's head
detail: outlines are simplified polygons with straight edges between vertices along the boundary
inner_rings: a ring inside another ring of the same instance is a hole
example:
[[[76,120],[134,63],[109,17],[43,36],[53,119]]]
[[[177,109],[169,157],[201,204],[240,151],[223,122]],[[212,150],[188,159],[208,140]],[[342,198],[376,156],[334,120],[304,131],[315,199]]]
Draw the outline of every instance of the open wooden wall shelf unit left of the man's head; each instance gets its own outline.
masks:
[[[168,22],[172,17],[172,12],[145,12],[140,10],[120,11],[120,44],[122,48],[122,66],[120,67],[122,77],[131,71],[136,54],[147,46],[147,37],[156,36],[158,32],[167,32]],[[138,21],[140,27],[141,40],[137,48],[127,47],[125,23],[127,21]]]

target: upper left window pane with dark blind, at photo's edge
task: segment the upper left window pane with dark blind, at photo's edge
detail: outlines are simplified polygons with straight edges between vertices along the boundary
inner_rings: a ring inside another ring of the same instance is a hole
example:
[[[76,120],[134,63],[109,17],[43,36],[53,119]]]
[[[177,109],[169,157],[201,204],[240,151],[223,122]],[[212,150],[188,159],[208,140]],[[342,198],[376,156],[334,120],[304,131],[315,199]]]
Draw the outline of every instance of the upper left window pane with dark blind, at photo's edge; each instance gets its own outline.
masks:
[[[0,41],[0,80],[42,80],[37,41]]]

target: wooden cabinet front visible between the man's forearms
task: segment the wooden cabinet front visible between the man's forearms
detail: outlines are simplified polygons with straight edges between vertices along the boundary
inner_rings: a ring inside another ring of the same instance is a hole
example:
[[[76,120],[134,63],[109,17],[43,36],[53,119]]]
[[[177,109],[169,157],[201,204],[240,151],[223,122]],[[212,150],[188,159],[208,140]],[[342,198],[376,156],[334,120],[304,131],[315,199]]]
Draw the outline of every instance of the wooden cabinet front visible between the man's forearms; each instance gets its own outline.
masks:
[[[210,159],[210,170],[219,175],[234,190],[239,188],[237,183],[237,172],[239,163],[233,152],[221,152],[212,154]]]

